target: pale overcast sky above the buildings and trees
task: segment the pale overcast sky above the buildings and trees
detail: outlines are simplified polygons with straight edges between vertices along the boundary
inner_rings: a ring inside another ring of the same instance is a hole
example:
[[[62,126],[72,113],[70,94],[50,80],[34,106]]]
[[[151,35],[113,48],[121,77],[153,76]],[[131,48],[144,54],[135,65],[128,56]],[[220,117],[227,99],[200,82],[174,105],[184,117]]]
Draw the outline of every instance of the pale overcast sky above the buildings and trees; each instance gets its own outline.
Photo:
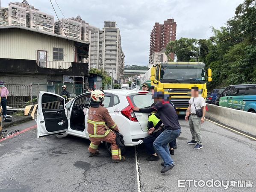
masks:
[[[15,2],[16,0],[12,0]],[[18,0],[21,2],[22,0]],[[27,0],[42,12],[54,15],[50,0]],[[10,0],[2,0],[8,6]],[[62,14],[52,0],[59,18]],[[56,0],[66,18],[80,15],[90,25],[100,29],[105,20],[117,22],[125,65],[147,65],[150,32],[154,23],[168,18],[177,22],[177,37],[209,38],[210,27],[220,28],[235,15],[243,0]]]

